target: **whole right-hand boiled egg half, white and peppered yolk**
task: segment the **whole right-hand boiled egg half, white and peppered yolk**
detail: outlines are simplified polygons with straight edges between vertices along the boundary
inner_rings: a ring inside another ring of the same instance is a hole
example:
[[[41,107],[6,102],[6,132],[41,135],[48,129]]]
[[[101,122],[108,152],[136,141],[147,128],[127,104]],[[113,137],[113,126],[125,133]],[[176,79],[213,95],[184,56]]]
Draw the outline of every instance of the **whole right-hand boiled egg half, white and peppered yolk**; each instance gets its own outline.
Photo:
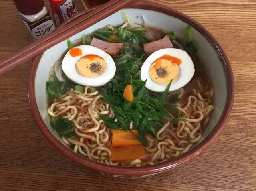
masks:
[[[141,67],[141,80],[147,79],[146,88],[163,92],[171,82],[169,91],[185,86],[193,77],[195,68],[190,56],[181,49],[166,48],[151,54]]]

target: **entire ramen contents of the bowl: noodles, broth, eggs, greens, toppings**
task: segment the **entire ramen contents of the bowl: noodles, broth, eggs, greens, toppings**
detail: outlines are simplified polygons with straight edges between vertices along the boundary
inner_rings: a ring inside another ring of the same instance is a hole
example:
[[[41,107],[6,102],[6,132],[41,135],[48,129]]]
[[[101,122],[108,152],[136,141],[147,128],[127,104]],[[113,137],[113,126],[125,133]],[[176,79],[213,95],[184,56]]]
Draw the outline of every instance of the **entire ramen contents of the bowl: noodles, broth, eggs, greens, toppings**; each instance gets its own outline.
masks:
[[[55,63],[46,83],[50,124],[74,152],[107,165],[145,166],[189,151],[214,110],[193,28],[106,26]],[[96,47],[96,48],[95,48]]]

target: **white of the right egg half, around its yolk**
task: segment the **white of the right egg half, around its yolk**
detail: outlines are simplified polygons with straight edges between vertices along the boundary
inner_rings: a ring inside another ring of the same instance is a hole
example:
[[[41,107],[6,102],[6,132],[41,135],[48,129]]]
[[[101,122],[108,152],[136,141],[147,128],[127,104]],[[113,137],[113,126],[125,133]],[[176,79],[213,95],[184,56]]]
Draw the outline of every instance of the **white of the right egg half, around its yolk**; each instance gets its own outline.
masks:
[[[151,91],[163,92],[167,88],[167,85],[159,85],[149,77],[149,69],[151,65],[158,58],[166,54],[173,57],[177,57],[182,61],[181,65],[179,65],[181,69],[181,76],[177,82],[171,84],[169,91],[174,91],[185,86],[187,83],[189,83],[189,81],[191,80],[191,78],[195,73],[193,61],[191,60],[187,52],[181,49],[176,49],[176,48],[165,48],[165,49],[158,50],[153,54],[151,54],[141,67],[141,80],[145,81],[147,79],[146,88]]]

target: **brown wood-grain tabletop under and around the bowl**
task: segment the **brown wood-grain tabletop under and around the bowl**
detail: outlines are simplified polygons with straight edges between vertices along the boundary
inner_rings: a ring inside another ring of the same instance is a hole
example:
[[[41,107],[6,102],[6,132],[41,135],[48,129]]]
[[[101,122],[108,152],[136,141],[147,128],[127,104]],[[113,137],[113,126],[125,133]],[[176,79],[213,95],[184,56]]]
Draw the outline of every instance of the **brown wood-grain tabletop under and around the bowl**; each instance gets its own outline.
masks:
[[[235,80],[228,124],[202,154],[167,173],[115,179],[58,153],[29,108],[32,61],[0,76],[0,191],[256,191],[256,0],[150,0],[191,16],[225,49]],[[48,1],[45,1],[49,6]],[[78,11],[83,4],[75,0]],[[0,59],[32,42],[12,0],[1,0]]]

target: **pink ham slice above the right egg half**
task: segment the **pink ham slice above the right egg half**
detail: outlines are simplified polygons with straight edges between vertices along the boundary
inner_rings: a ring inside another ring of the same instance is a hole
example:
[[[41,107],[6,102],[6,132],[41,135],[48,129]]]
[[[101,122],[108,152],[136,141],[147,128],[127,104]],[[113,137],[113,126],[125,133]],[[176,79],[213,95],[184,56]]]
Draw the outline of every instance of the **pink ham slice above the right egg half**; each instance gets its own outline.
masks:
[[[144,51],[146,53],[152,54],[155,51],[158,51],[163,48],[173,48],[171,40],[169,37],[165,36],[161,40],[153,41],[150,43],[143,44]]]

